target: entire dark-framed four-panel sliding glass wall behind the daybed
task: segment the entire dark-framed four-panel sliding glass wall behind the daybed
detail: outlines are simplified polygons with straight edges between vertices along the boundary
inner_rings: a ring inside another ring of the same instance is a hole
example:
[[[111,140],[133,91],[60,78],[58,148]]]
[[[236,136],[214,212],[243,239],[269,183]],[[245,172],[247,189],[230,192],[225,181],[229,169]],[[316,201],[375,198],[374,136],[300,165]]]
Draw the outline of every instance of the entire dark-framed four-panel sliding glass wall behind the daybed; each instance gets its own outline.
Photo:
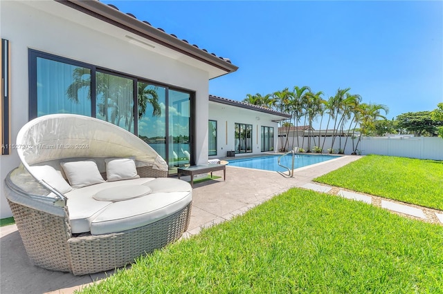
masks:
[[[45,52],[28,53],[30,119],[53,113],[97,117],[138,135],[171,167],[192,164],[192,92]]]

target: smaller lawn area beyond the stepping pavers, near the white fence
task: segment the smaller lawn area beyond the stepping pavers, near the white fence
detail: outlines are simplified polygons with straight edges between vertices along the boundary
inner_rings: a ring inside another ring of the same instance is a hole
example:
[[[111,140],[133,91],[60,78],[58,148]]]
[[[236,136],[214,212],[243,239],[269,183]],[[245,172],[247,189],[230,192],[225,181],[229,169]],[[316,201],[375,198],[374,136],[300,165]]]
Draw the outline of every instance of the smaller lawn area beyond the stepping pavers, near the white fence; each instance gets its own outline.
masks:
[[[368,155],[314,181],[443,210],[443,161]]]

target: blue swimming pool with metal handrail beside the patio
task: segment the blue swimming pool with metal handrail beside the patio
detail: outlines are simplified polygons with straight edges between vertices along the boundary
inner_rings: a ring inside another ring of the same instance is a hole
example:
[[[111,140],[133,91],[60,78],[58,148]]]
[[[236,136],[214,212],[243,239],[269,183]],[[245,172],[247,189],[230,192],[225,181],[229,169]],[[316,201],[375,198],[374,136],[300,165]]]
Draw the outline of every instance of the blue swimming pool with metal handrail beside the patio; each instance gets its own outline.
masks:
[[[249,157],[244,159],[230,159],[229,166],[238,166],[241,168],[255,168],[258,170],[273,170],[284,172],[286,169],[278,165],[278,157],[280,155],[267,155],[261,157]],[[334,155],[304,155],[297,154],[293,162],[293,168],[301,168],[303,166],[310,166],[311,164],[318,164],[319,162],[337,158]],[[291,168],[292,155],[285,155],[280,160],[280,164]]]

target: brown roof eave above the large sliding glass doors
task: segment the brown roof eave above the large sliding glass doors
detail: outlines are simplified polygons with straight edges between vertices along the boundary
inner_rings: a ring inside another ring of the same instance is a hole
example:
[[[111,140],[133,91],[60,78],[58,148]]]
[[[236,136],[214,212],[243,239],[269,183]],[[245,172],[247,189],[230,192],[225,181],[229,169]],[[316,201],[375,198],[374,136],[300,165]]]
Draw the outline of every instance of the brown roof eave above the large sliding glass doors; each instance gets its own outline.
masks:
[[[194,59],[202,61],[204,63],[209,64],[210,66],[214,66],[215,68],[219,68],[220,70],[224,70],[226,73],[235,72],[238,67],[233,65],[223,59],[222,57],[217,57],[211,53],[208,53],[196,46],[190,45],[187,41],[183,41],[169,35],[162,30],[154,28],[150,26],[150,24],[145,23],[132,17],[129,14],[125,14],[120,10],[113,8],[111,6],[106,5],[105,3],[101,3],[97,0],[55,0],[58,3],[62,3],[66,6],[69,6],[75,10],[80,12],[84,12],[86,14],[91,15],[92,17],[96,17],[102,21],[106,21],[107,23],[111,23],[114,26],[118,26],[127,30],[128,32],[132,32],[140,37],[153,41],[155,43],[159,43],[162,46],[167,48],[171,48],[177,52],[180,52],[184,55],[188,55]]]

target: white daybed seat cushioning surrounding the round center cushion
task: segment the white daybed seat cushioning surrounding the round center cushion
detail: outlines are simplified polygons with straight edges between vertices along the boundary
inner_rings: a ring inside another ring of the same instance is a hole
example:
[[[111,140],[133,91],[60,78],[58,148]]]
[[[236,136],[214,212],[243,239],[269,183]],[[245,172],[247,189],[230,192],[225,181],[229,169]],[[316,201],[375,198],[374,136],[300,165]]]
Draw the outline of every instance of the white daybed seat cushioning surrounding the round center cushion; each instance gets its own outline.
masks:
[[[147,186],[152,193],[120,202],[97,201],[92,197],[100,190],[127,185]],[[179,179],[143,177],[87,186],[66,196],[72,232],[102,235],[145,226],[177,213],[192,201],[192,188]]]

